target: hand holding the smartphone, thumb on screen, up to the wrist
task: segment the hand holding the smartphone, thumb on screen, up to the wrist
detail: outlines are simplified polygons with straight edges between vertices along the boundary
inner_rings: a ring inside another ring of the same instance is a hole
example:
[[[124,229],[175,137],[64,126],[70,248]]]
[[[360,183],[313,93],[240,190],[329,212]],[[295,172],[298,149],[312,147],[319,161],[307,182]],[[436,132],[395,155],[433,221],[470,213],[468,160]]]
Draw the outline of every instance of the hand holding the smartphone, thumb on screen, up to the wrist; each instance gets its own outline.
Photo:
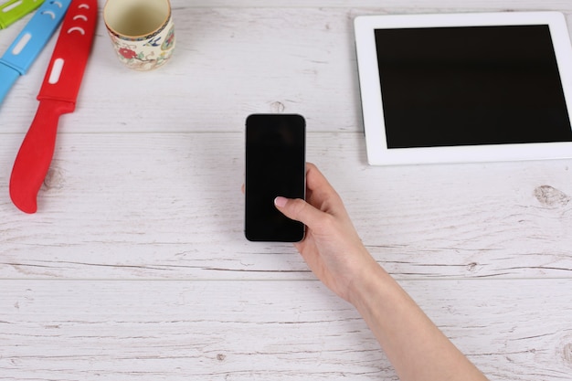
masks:
[[[352,285],[376,261],[355,231],[340,196],[314,164],[306,164],[306,200],[277,197],[275,206],[307,227],[294,246],[312,272],[351,302]]]

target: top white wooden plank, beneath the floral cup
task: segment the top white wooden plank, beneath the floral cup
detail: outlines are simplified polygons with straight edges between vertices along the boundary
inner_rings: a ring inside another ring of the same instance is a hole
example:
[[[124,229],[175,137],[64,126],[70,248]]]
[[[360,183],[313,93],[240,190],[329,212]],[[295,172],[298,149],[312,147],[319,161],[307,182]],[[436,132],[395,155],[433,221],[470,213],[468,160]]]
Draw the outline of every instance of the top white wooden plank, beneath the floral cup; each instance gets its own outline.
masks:
[[[270,7],[220,4],[174,2],[175,56],[148,73],[121,66],[100,19],[78,108],[67,116],[73,131],[238,132],[249,113],[275,111],[302,113],[316,131],[362,131],[355,16],[538,9],[529,1],[392,2],[374,8],[360,7],[371,2],[340,1],[323,8],[285,2],[264,2]],[[567,1],[542,8],[572,14]],[[24,22],[0,31],[0,51]],[[0,133],[29,127],[54,43],[55,38],[0,107]]]

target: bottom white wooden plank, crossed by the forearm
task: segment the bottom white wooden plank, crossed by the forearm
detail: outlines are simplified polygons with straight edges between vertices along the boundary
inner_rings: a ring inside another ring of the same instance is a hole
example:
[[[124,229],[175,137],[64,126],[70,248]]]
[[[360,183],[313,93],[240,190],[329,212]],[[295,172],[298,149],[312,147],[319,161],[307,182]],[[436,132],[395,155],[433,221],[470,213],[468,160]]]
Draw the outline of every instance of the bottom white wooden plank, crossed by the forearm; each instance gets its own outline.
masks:
[[[404,287],[491,379],[569,379],[571,280]],[[396,379],[317,281],[0,281],[0,379]]]

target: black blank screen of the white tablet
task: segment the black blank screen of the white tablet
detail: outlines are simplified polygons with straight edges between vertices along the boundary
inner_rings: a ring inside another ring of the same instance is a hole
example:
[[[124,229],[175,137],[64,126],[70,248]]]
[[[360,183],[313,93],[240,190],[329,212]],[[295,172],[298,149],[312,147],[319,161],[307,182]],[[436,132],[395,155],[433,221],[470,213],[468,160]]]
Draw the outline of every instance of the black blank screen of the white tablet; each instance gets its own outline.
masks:
[[[548,26],[376,29],[387,147],[572,142]]]

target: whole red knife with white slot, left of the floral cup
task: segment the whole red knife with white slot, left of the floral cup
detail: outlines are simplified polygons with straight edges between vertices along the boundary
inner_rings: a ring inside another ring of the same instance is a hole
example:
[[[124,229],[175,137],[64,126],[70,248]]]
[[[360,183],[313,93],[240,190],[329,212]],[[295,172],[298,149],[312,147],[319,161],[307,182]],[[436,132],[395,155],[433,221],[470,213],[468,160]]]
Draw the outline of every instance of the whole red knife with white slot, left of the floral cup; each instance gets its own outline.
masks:
[[[98,16],[97,0],[72,0],[37,95],[36,117],[16,156],[10,197],[20,210],[37,211],[37,192],[54,155],[59,116],[76,108]]]

